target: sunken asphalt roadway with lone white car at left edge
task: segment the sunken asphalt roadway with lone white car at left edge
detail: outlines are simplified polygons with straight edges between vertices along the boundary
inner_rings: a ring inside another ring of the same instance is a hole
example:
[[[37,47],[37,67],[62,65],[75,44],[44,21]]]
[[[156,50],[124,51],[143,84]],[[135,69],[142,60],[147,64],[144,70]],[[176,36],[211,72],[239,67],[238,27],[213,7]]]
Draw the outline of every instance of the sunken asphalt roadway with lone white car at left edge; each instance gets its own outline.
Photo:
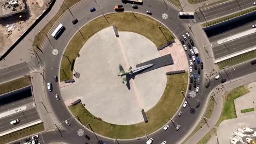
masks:
[[[10,124],[11,121],[19,119],[20,122],[18,124]],[[16,127],[20,127],[21,125],[27,124],[32,121],[36,121],[37,119],[40,119],[36,108],[25,110],[19,113],[15,113],[14,115],[10,115],[4,118],[1,118],[0,122],[0,131],[7,131],[9,129],[13,129]]]

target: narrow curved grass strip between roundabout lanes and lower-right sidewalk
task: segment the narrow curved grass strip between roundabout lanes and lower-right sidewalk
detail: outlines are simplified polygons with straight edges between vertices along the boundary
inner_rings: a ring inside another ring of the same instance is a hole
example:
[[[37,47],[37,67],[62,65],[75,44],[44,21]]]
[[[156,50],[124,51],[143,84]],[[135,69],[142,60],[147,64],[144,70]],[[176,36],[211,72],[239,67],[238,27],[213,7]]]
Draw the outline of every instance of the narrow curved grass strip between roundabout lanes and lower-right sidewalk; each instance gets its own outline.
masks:
[[[215,104],[215,102],[214,102],[213,98],[211,98],[210,103],[208,104],[207,109],[206,109],[206,111],[205,111],[205,115],[203,115],[203,117],[206,117],[206,118],[210,118],[210,117],[211,117],[212,112],[213,112],[214,104]],[[182,142],[182,144],[184,144],[185,142],[187,142],[188,139],[189,139],[191,136],[193,136],[199,129],[201,129],[202,126],[206,124],[206,121],[208,121],[208,120],[207,120],[207,119],[202,119],[201,122],[200,122],[199,124],[197,124],[196,128],[192,131],[192,133],[187,137],[187,139],[185,139],[185,140]]]

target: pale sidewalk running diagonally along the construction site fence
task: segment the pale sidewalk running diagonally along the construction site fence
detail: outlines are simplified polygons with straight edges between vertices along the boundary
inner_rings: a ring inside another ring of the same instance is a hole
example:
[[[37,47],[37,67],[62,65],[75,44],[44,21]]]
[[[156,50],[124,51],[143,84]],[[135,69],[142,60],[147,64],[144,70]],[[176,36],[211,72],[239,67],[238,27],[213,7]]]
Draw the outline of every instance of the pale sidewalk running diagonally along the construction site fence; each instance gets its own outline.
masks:
[[[38,30],[42,29],[48,21],[53,19],[53,17],[57,14],[57,11],[60,9],[60,5],[62,4],[62,0],[56,0],[51,11],[38,23],[36,27],[32,29],[30,33],[6,56],[2,61],[0,61],[0,69],[10,67],[11,65],[15,65],[18,63],[26,62],[32,57],[34,57],[29,49],[32,47],[32,43],[30,40],[34,40],[34,35],[39,33]],[[30,39],[30,40],[29,40]]]

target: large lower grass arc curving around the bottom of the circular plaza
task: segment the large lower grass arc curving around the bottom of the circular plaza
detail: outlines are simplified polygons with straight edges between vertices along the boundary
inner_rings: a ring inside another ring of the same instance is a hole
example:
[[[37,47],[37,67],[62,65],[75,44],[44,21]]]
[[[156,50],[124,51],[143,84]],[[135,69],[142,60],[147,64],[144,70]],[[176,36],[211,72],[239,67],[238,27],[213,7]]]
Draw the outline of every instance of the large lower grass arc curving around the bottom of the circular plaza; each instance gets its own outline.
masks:
[[[82,104],[69,106],[74,116],[82,124],[90,123],[97,134],[116,137],[117,139],[132,139],[158,130],[169,121],[183,101],[181,91],[185,91],[188,84],[188,73],[167,75],[167,84],[158,103],[146,112],[148,123],[141,122],[132,125],[115,125],[102,121],[88,112]]]

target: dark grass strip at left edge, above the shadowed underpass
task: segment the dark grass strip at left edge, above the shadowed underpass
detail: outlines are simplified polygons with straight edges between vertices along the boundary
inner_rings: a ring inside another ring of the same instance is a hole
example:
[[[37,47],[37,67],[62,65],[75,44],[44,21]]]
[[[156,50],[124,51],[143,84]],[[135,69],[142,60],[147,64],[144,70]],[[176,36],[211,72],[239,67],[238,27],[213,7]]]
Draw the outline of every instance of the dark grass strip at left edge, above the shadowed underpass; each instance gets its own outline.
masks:
[[[19,88],[30,86],[31,80],[29,76],[24,76],[16,80],[8,81],[0,85],[0,94],[15,91]]]

